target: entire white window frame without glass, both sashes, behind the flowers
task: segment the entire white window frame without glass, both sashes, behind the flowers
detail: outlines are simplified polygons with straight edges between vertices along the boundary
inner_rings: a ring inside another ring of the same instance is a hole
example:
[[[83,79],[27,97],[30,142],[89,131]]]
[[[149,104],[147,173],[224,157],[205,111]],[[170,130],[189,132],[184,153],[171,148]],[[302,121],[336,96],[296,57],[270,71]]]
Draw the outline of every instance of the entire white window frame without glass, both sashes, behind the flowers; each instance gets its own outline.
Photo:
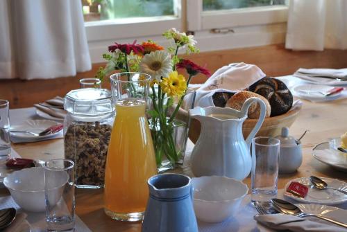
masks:
[[[230,0],[232,1],[232,0]],[[185,3],[185,5],[183,5]],[[203,12],[203,0],[175,0],[176,16],[139,17],[85,22],[93,63],[114,42],[153,39],[162,46],[161,35],[169,28],[194,32],[201,51],[218,51],[281,44],[287,32],[288,6],[264,6]],[[182,15],[185,12],[185,15]]]

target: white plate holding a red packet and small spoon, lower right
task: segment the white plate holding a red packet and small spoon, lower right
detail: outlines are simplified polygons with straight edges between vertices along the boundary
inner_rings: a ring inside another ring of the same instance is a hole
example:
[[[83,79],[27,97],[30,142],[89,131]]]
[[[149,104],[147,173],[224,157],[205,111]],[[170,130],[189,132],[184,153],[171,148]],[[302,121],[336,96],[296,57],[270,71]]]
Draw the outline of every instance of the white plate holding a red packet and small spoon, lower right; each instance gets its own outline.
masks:
[[[319,177],[325,181],[329,187],[338,188],[341,190],[347,190],[347,183],[344,181],[339,181],[338,179],[330,179],[325,177]],[[308,193],[305,198],[296,197],[288,193],[286,189],[288,188],[291,181],[297,181],[305,186],[309,187]],[[285,185],[284,195],[290,197],[291,199],[295,199],[298,202],[305,202],[311,204],[341,204],[347,202],[347,195],[344,193],[340,193],[337,190],[327,189],[327,190],[319,190],[317,188],[313,188],[310,177],[301,177],[297,179],[292,179]]]

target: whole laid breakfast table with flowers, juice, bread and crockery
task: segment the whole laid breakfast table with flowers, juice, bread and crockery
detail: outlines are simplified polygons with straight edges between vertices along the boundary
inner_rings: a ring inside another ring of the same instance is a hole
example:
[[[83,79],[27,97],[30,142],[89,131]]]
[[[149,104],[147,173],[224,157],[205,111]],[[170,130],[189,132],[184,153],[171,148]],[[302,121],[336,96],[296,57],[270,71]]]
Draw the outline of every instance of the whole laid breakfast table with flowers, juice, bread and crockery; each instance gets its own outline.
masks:
[[[0,230],[347,231],[347,69],[210,73],[163,35],[66,96],[0,100]]]

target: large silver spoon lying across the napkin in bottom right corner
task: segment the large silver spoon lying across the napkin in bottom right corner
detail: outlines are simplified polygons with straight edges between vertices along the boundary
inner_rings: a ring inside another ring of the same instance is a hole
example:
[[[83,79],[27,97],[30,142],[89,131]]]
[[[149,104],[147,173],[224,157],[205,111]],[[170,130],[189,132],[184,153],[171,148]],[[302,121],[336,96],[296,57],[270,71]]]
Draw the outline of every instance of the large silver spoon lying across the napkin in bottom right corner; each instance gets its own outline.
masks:
[[[332,220],[331,218],[325,217],[323,215],[304,213],[303,211],[301,211],[300,208],[298,208],[294,204],[291,204],[291,203],[289,203],[285,200],[282,200],[282,199],[273,198],[273,199],[271,199],[271,203],[272,203],[273,208],[275,208],[276,211],[278,211],[280,213],[298,216],[298,217],[314,216],[314,217],[318,217],[318,218],[323,219],[325,221],[332,222],[334,224],[337,224],[339,226],[344,226],[345,228],[347,228],[347,224],[344,224],[342,222],[337,222],[337,221]]]

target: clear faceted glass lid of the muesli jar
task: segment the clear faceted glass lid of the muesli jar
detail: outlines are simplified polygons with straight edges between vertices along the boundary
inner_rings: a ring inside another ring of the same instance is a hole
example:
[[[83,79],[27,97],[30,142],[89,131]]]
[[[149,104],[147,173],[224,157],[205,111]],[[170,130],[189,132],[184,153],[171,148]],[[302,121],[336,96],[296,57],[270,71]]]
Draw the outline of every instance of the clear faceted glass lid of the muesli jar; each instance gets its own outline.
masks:
[[[112,93],[108,89],[74,89],[64,98],[64,109],[78,116],[102,116],[114,111]]]

